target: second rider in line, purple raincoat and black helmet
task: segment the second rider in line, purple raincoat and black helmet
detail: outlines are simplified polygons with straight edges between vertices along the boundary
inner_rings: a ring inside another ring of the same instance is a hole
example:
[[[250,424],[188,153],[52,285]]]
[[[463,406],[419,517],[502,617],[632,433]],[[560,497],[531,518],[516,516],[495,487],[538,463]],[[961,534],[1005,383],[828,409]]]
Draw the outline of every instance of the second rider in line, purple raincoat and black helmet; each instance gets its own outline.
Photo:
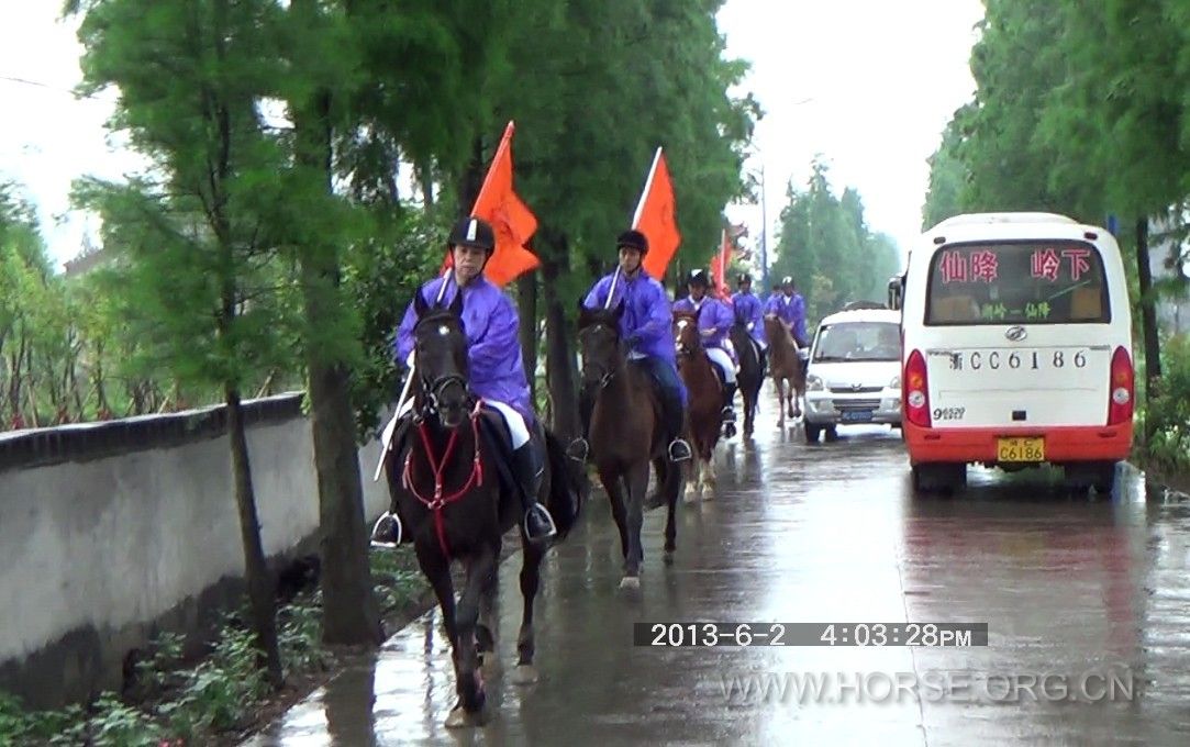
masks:
[[[682,462],[693,456],[690,445],[682,438],[685,420],[685,387],[677,375],[677,351],[674,349],[674,313],[669,296],[659,282],[640,269],[649,253],[649,239],[639,231],[625,231],[616,238],[620,266],[595,283],[583,300],[587,308],[615,308],[624,303],[620,334],[627,343],[628,358],[645,366],[662,395],[666,435],[671,439],[669,458]],[[615,289],[612,289],[613,280]],[[608,305],[608,294],[614,294]],[[589,451],[587,433],[595,409],[595,393],[583,390],[578,398],[583,419],[583,435],[568,448],[571,459],[584,462]]]

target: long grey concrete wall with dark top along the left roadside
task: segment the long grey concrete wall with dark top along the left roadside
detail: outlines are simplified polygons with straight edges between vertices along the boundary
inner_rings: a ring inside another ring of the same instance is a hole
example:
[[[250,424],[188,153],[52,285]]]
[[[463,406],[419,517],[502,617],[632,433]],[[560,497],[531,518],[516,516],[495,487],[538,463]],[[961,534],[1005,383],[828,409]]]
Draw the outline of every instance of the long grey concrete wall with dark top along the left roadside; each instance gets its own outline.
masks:
[[[298,394],[246,403],[265,552],[317,551]],[[243,591],[224,408],[0,434],[0,689],[38,705],[119,690],[158,630],[199,634]],[[367,516],[380,445],[359,452]]]

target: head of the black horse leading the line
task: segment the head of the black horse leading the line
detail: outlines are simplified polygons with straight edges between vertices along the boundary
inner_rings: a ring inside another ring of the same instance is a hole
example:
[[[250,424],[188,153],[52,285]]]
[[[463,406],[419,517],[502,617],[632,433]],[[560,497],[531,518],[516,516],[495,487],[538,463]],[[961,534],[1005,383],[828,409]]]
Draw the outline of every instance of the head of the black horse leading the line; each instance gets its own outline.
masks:
[[[419,418],[437,415],[446,428],[457,428],[474,404],[468,391],[466,331],[463,326],[463,294],[449,306],[430,306],[414,296],[418,324],[413,327],[419,387],[414,410]]]

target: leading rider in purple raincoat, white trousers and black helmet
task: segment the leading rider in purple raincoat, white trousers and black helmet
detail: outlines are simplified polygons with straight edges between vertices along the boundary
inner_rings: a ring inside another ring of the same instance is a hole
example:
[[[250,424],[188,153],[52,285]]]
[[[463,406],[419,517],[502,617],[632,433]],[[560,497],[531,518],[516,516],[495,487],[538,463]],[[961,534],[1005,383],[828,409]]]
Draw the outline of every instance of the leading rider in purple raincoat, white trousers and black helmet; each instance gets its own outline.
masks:
[[[508,296],[483,276],[483,266],[495,251],[495,234],[486,221],[464,218],[451,231],[449,244],[453,269],[445,278],[437,277],[424,284],[419,293],[434,306],[445,284],[440,305],[446,306],[462,288],[468,385],[508,425],[513,439],[513,470],[525,508],[525,533],[533,541],[546,540],[557,534],[557,528],[550,513],[537,501],[545,442],[530,400],[516,309]],[[396,333],[399,362],[414,363],[413,328],[416,324],[418,314],[411,302]]]

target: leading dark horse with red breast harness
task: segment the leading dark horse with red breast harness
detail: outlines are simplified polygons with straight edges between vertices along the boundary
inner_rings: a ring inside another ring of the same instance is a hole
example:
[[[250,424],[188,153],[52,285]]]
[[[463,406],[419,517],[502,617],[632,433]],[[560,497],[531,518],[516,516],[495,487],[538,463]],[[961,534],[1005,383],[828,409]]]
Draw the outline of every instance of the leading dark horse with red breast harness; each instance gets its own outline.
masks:
[[[412,538],[422,573],[433,585],[450,639],[458,704],[447,727],[478,726],[487,718],[486,695],[478,671],[478,646],[493,642],[490,629],[478,624],[481,604],[490,607],[503,535],[521,525],[524,509],[514,488],[501,479],[501,447],[507,439],[499,415],[481,408],[468,389],[466,334],[462,294],[449,308],[427,308],[415,296],[416,377],[413,421],[386,454],[392,510]],[[495,427],[491,427],[495,426]],[[497,433],[495,439],[489,433]],[[574,475],[556,438],[546,433],[547,469],[541,501],[553,515],[560,541],[578,513]],[[500,446],[494,446],[494,444]],[[525,540],[520,588],[524,596],[514,682],[536,679],[533,670],[533,600],[545,547]],[[451,563],[458,560],[466,582],[458,604]]]

